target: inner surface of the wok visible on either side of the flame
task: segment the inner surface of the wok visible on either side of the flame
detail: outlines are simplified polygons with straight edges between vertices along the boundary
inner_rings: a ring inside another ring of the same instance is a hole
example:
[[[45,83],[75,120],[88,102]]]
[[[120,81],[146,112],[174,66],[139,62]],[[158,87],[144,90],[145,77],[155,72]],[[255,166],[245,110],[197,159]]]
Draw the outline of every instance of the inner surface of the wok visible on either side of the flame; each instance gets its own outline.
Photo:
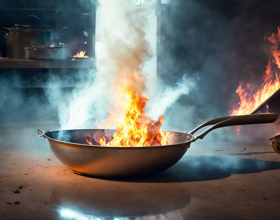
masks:
[[[113,136],[116,130],[114,129],[77,129],[77,130],[60,130],[52,131],[45,134],[46,137],[75,144],[86,144],[86,138],[91,139],[93,145],[100,146],[95,140],[99,140],[102,136]],[[168,134],[169,145],[186,143],[192,139],[192,135],[183,132],[165,131]]]

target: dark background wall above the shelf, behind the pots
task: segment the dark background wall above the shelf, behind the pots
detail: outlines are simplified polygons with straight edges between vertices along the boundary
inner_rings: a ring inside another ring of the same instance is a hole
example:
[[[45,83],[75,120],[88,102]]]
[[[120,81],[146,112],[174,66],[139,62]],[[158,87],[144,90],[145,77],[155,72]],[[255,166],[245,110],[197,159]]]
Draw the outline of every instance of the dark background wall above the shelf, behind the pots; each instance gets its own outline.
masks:
[[[95,29],[95,4],[89,0],[76,1],[36,1],[36,0],[1,0],[0,27],[14,27],[20,24],[27,15],[39,17],[47,26],[50,26],[52,35],[63,27],[67,30],[57,35],[56,46],[59,42],[69,46],[70,53],[76,54],[79,50],[87,51],[86,55],[93,57],[93,35]],[[36,18],[27,18],[23,24],[40,25]],[[84,34],[87,32],[88,34]],[[2,57],[7,56],[5,35],[1,34],[0,50]],[[85,44],[84,42],[87,42]]]

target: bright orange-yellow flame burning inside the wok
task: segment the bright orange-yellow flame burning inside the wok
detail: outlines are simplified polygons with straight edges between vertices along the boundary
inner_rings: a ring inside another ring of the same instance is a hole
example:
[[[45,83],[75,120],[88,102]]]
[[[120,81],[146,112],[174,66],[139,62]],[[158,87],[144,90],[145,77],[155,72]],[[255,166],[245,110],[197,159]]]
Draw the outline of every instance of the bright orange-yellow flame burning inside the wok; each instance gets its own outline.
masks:
[[[160,116],[159,120],[154,122],[145,114],[144,108],[149,99],[142,93],[137,94],[135,86],[125,85],[119,89],[123,97],[124,118],[118,124],[113,139],[108,142],[108,139],[106,140],[108,137],[103,136],[99,140],[100,145],[111,147],[167,145],[167,133],[160,129],[164,117]],[[91,141],[87,140],[87,143],[92,145]]]

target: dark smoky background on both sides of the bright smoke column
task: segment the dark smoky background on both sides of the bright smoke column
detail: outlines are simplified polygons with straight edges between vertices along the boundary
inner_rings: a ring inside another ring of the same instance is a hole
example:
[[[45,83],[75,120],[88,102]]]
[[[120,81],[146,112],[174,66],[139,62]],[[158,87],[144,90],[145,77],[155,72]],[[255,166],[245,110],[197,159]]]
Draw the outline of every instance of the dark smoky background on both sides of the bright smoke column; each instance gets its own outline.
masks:
[[[33,14],[51,26],[53,33],[67,26],[61,39],[84,49],[83,42],[90,36],[85,37],[83,31],[94,34],[92,5],[87,0],[2,0],[0,26],[12,27]],[[279,1],[174,0],[157,10],[161,12],[158,77],[163,86],[174,86],[184,74],[198,79],[190,95],[181,97],[165,113],[169,129],[192,129],[228,115],[239,102],[235,90],[241,81],[258,89],[267,62],[272,60],[270,43],[264,36],[277,32],[280,26]],[[0,38],[5,54],[5,38]],[[272,68],[279,75],[274,63]],[[57,119],[57,110],[44,95],[44,86],[50,79],[65,78],[64,87],[69,92],[80,80],[78,72],[86,75],[88,69],[0,69],[1,120],[35,117],[42,108],[46,117]],[[280,113],[279,100],[278,95],[269,103],[270,111]]]

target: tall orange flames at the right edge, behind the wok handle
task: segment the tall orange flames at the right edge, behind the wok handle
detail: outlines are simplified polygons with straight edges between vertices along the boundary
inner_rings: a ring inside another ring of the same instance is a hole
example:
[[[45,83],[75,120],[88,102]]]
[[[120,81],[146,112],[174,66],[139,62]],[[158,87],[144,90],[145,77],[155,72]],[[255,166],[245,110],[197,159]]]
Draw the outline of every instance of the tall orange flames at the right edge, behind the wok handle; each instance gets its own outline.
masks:
[[[265,37],[266,39],[266,37]],[[280,51],[278,47],[280,46],[280,29],[278,27],[278,33],[274,33],[267,37],[267,40],[271,42],[271,53],[274,57],[272,60],[273,63],[277,65],[277,68],[280,69]],[[265,75],[262,79],[262,84],[256,92],[251,90],[249,83],[246,83],[246,88],[244,88],[241,82],[236,90],[236,93],[239,95],[240,102],[239,107],[234,107],[232,109],[231,115],[244,115],[252,113],[258,106],[260,106],[264,101],[266,101],[273,93],[280,88],[279,76],[276,72],[272,70],[272,63],[268,61],[266,66]],[[268,106],[267,106],[268,110]],[[237,131],[238,131],[237,127]]]

